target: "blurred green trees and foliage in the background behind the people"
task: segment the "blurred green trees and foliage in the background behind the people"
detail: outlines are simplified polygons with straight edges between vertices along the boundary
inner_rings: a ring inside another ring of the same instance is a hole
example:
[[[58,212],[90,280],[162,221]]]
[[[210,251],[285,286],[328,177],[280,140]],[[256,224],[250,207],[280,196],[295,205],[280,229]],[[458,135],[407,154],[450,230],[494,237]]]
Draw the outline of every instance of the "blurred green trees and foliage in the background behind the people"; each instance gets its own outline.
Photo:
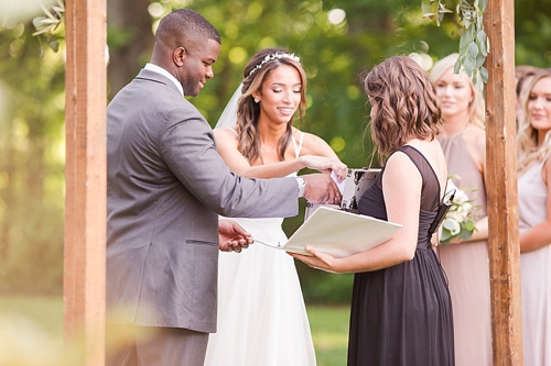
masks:
[[[489,0],[491,1],[491,0]],[[446,1],[455,9],[456,0]],[[4,4],[6,5],[6,4]],[[47,47],[30,20],[0,5],[0,295],[62,293],[64,221],[64,43]],[[191,101],[214,125],[258,49],[282,46],[309,76],[301,127],[324,140],[349,167],[369,166],[369,114],[359,75],[395,54],[424,67],[458,48],[456,15],[439,27],[421,0],[108,0],[108,97],[149,60],[155,24],[176,8],[202,13],[219,31],[220,56]],[[551,1],[517,0],[516,63],[551,66]],[[3,15],[2,15],[3,14]],[[63,36],[63,24],[56,35]],[[374,159],[371,166],[377,166]],[[304,203],[304,202],[302,202]],[[302,209],[303,210],[303,209]],[[303,213],[285,221],[291,234]],[[306,301],[347,302],[352,275],[298,264]]]

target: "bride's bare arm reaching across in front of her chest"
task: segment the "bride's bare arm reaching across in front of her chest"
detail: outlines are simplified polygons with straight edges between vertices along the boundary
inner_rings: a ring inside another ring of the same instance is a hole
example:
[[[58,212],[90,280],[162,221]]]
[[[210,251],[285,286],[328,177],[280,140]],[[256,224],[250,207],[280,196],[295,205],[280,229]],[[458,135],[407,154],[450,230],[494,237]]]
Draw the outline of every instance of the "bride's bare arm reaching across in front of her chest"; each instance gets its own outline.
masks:
[[[288,176],[303,168],[321,171],[335,170],[339,177],[344,178],[346,176],[346,166],[338,160],[331,147],[329,151],[333,153],[333,156],[328,156],[329,154],[326,153],[320,156],[303,155],[299,158],[285,162],[251,166],[247,158],[238,151],[238,141],[234,132],[229,129],[215,129],[214,134],[218,154],[220,154],[231,171],[244,177],[278,178]]]

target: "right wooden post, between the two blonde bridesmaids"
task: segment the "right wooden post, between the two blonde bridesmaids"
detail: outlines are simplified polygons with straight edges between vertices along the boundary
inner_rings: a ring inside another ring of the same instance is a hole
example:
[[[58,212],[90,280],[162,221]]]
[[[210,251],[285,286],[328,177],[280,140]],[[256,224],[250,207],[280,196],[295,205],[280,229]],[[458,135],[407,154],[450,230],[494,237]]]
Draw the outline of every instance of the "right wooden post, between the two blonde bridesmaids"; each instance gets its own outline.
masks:
[[[489,0],[484,15],[486,152],[494,365],[522,365],[517,200],[514,0]]]

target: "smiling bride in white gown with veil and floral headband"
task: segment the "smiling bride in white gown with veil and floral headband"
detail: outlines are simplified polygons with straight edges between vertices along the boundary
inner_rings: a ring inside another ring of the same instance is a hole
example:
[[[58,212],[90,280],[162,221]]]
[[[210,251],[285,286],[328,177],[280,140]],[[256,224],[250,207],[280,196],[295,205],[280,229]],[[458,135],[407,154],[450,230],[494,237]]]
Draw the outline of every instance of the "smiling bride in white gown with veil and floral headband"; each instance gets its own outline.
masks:
[[[339,180],[347,167],[321,137],[292,125],[306,100],[300,58],[281,48],[258,52],[215,129],[218,153],[245,177],[276,178],[303,168]],[[253,239],[287,241],[283,219],[238,219]],[[258,242],[240,254],[220,253],[218,330],[207,366],[315,365],[315,353],[294,259]]]

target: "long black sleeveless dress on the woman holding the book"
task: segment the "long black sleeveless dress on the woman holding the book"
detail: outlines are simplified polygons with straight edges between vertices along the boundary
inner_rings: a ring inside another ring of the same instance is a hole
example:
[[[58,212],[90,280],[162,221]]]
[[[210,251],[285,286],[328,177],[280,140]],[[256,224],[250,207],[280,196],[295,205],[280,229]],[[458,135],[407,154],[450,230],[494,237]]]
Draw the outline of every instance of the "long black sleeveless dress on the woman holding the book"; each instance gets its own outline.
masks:
[[[439,180],[419,151],[409,145],[400,151],[423,178],[417,251],[412,260],[356,274],[348,366],[454,365],[452,302],[428,234],[439,204]],[[359,211],[387,220],[383,174],[385,169],[361,197]]]

